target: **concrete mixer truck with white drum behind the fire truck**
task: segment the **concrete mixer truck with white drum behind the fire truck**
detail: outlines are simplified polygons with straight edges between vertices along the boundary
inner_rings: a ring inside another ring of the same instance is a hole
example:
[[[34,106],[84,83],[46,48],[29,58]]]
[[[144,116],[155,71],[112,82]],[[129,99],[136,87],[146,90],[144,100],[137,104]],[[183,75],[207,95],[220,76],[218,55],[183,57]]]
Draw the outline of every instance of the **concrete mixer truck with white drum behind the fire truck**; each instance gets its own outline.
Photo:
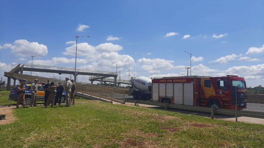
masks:
[[[151,99],[151,79],[147,77],[131,77],[132,96],[134,99]]]

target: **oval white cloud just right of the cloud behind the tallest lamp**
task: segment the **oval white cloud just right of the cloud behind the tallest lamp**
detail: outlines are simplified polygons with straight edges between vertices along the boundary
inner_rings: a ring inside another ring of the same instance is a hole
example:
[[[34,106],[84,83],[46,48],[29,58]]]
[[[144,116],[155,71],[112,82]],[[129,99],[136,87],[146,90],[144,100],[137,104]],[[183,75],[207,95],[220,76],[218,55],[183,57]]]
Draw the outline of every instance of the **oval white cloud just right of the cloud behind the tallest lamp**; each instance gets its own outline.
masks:
[[[113,43],[103,43],[95,47],[99,52],[116,52],[122,50],[123,47],[120,45],[114,45]]]

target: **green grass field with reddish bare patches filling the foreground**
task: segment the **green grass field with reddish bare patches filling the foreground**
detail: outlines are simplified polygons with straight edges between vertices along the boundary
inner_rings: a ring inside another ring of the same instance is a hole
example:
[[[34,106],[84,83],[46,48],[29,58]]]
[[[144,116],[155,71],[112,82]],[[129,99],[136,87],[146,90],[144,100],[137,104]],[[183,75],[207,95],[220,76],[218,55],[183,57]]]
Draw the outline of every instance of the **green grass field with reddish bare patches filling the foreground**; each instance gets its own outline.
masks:
[[[9,103],[5,101],[7,93],[0,91],[1,103]],[[13,109],[17,120],[0,125],[0,147],[264,146],[263,125],[83,98],[76,102],[68,108],[41,105]]]

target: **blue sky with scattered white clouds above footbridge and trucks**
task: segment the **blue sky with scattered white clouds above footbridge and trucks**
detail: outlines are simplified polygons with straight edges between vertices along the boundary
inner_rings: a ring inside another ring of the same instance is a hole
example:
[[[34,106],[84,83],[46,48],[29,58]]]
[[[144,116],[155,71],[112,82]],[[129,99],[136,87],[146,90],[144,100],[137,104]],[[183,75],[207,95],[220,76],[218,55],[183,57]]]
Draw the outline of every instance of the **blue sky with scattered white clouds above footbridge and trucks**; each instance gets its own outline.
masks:
[[[78,39],[78,68],[115,71],[115,62],[123,79],[128,79],[129,69],[131,76],[186,75],[188,51],[195,56],[193,75],[238,74],[248,86],[264,85],[263,5],[264,1],[2,0],[0,74],[10,64],[31,63],[31,55],[42,55],[35,64],[74,67],[75,44],[66,42],[75,41],[74,35],[89,35]],[[80,80],[88,81],[86,76]]]

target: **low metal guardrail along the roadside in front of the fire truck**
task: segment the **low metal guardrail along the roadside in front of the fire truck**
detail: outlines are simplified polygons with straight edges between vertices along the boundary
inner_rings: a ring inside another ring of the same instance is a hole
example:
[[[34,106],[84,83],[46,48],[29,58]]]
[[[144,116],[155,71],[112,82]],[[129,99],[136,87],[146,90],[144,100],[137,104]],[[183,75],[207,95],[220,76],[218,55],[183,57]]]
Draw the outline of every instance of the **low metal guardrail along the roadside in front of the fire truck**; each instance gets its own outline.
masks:
[[[161,107],[164,107],[165,110],[167,110],[167,108],[175,108],[175,109],[182,109],[182,110],[188,110],[188,111],[207,112],[207,113],[211,113],[211,119],[214,118],[214,114],[224,114],[224,115],[235,116],[235,111],[229,110],[229,109],[207,108],[207,107],[177,105],[177,104],[166,104],[166,103],[160,103],[160,102],[156,102],[156,101],[139,101],[139,100],[131,100],[131,99],[125,99],[125,102],[135,103],[135,105],[146,104],[146,105],[153,105],[153,106],[161,106]],[[263,112],[256,112],[256,111],[237,111],[237,115],[238,116],[245,116],[245,117],[264,118]]]

